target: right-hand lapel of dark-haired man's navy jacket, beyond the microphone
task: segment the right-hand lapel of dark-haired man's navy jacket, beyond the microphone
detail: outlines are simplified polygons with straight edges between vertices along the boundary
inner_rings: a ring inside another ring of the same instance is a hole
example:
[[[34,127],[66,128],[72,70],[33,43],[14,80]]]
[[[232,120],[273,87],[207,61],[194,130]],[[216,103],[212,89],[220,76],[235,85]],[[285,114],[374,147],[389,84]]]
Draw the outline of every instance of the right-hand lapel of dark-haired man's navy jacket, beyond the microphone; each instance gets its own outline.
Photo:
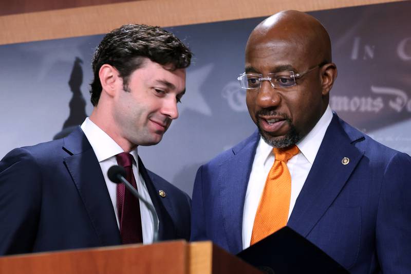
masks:
[[[168,210],[172,210],[172,205],[170,199],[161,198],[158,195],[158,190],[156,187],[156,181],[152,176],[150,176],[143,165],[140,157],[138,158],[138,168],[141,176],[144,179],[145,185],[147,187],[148,194],[153,202],[153,206],[156,210],[157,217],[159,220],[158,226],[158,236],[159,240],[171,240],[176,238],[176,231],[174,223]],[[161,189],[161,188],[160,188]]]

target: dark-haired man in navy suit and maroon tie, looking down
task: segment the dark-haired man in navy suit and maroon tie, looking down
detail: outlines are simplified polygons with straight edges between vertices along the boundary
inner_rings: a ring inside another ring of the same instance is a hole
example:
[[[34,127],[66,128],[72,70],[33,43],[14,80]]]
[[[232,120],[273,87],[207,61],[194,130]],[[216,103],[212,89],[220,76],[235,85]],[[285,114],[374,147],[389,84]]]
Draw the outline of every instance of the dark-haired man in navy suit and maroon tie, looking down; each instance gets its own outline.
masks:
[[[64,139],[18,148],[0,162],[0,255],[190,237],[188,195],[146,170],[139,145],[160,142],[185,92],[190,50],[159,27],[124,25],[92,61],[94,110]],[[121,162],[121,163],[120,163]],[[123,165],[150,211],[107,177]]]

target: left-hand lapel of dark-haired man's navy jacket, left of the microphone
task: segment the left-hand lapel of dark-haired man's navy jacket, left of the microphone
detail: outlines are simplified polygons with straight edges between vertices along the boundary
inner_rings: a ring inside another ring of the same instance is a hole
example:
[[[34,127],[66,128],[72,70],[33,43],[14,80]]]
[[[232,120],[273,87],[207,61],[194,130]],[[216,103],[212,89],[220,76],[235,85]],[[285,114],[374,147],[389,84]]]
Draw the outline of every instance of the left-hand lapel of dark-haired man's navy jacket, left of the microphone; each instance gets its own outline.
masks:
[[[121,244],[116,215],[99,162],[80,127],[64,139],[64,158],[101,245]]]

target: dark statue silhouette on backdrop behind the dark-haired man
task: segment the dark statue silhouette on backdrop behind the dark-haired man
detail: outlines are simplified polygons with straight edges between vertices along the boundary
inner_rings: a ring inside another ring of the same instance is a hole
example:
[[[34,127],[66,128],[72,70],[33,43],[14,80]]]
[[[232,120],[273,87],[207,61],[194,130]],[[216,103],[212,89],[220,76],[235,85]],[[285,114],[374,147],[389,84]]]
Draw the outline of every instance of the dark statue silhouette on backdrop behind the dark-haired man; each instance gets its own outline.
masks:
[[[86,101],[84,100],[80,89],[81,84],[83,83],[83,69],[81,68],[82,63],[83,61],[78,57],[74,60],[70,80],[68,81],[68,85],[73,93],[73,96],[68,103],[68,106],[70,107],[70,114],[63,124],[63,129],[53,137],[54,140],[69,135],[76,128],[76,126],[80,125],[87,117]]]

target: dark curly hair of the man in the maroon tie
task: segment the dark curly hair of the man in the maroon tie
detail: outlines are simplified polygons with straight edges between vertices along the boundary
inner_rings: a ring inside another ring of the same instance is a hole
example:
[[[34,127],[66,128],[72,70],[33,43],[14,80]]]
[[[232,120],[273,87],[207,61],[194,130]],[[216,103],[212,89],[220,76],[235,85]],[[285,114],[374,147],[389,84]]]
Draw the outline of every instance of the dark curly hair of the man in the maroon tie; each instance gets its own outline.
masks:
[[[107,33],[97,47],[92,59],[94,80],[90,84],[91,103],[96,106],[100,99],[100,67],[115,67],[127,90],[128,78],[148,58],[160,65],[173,65],[173,69],[190,65],[192,53],[173,33],[160,27],[147,25],[123,25]]]

